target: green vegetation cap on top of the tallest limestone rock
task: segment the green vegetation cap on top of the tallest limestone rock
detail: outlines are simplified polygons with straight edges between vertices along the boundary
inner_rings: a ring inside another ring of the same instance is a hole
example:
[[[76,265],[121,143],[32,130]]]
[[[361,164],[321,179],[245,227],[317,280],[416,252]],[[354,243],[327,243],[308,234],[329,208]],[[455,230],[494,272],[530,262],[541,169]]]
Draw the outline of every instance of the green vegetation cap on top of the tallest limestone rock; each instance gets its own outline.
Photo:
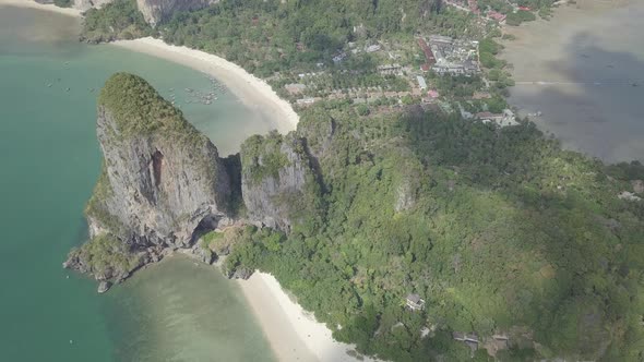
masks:
[[[120,137],[157,133],[175,141],[207,142],[206,136],[186,121],[180,110],[138,75],[116,73],[110,76],[100,90],[98,106],[115,119]]]

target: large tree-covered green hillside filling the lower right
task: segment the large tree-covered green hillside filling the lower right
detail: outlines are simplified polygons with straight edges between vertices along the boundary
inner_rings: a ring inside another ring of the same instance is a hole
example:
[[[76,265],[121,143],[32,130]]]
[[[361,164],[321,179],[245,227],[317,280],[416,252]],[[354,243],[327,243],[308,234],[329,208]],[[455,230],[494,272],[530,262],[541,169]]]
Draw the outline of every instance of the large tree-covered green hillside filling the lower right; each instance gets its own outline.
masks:
[[[293,205],[288,236],[249,227],[229,272],[274,274],[337,339],[394,361],[468,359],[453,331],[478,335],[480,360],[494,334],[510,338],[502,361],[642,358],[644,203],[618,197],[641,165],[607,169],[532,123],[335,107],[297,131],[318,210]]]

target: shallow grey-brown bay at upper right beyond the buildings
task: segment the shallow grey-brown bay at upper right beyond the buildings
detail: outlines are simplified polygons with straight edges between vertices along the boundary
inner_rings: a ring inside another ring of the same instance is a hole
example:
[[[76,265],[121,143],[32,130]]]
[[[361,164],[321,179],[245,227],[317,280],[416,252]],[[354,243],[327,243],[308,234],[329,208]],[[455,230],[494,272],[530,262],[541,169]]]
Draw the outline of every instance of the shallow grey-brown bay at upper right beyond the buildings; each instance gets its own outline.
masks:
[[[580,0],[550,21],[508,27],[510,104],[564,147],[609,162],[644,161],[644,2]]]

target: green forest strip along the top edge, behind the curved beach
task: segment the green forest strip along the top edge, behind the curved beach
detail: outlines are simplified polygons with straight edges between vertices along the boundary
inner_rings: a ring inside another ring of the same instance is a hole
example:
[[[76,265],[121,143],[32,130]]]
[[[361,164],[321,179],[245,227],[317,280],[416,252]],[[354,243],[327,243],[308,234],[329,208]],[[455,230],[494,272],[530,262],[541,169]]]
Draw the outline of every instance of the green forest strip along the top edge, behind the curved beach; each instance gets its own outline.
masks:
[[[134,0],[87,13],[83,37],[109,41],[152,34],[135,16]],[[375,41],[419,29],[476,36],[474,15],[440,0],[345,1],[225,0],[194,12],[180,12],[157,26],[165,41],[215,53],[259,76],[276,71],[315,69],[348,41]]]

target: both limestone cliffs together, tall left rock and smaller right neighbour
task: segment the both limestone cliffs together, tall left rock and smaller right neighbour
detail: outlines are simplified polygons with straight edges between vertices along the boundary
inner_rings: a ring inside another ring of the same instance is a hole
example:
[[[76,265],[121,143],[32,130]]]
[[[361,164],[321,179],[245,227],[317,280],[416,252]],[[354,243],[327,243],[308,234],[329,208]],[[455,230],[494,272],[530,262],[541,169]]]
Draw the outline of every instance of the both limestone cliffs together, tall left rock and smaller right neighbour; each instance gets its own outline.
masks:
[[[64,266],[98,280],[122,280],[178,249],[210,263],[219,252],[198,240],[232,222],[288,233],[320,221],[317,160],[297,132],[252,136],[222,159],[143,79],[118,73],[98,97],[97,136],[104,160],[85,209],[91,240]]]

